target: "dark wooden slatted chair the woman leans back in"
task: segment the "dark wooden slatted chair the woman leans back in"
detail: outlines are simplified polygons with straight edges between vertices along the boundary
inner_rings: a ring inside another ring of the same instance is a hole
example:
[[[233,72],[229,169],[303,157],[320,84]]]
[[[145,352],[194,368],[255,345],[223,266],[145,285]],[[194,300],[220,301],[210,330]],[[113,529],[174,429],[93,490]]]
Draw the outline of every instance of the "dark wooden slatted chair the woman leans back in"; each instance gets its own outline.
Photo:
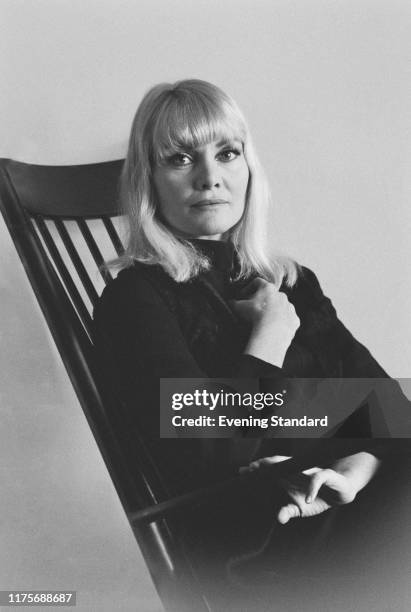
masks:
[[[88,423],[166,609],[209,610],[164,519],[133,515],[167,499],[143,440],[129,471],[110,415],[118,399],[96,365],[91,314],[120,254],[118,179],[123,160],[40,166],[0,160],[0,206]]]

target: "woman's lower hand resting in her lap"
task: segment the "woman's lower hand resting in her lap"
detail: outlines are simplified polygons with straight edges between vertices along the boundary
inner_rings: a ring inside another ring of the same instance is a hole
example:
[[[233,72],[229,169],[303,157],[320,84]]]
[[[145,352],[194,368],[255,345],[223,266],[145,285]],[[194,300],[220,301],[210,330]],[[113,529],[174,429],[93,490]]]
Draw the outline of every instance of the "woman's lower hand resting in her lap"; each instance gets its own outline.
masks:
[[[246,469],[261,469],[287,459],[290,457],[283,455],[265,457]],[[277,520],[285,525],[292,518],[315,516],[335,505],[351,503],[374,476],[379,463],[374,455],[361,452],[339,459],[332,468],[315,467],[282,479],[280,483],[291,502],[280,509]]]

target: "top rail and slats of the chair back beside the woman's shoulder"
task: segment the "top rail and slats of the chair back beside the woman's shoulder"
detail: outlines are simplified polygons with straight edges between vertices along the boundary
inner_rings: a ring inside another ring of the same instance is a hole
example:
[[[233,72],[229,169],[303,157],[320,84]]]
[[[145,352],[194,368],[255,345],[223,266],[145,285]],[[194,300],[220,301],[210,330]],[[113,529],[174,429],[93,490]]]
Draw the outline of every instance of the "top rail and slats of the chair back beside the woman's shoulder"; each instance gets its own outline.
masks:
[[[104,262],[123,252],[117,223],[121,168],[122,160],[82,166],[4,164],[88,334],[92,308],[111,279]]]

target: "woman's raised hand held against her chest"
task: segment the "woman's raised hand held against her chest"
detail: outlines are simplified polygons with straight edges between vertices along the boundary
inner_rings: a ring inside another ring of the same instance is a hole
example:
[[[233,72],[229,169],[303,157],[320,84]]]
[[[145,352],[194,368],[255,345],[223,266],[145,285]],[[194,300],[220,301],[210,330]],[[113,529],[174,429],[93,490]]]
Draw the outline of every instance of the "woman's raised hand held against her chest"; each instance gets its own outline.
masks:
[[[245,353],[282,367],[285,354],[300,325],[285,293],[262,278],[244,289],[244,299],[232,302],[237,314],[252,325]]]

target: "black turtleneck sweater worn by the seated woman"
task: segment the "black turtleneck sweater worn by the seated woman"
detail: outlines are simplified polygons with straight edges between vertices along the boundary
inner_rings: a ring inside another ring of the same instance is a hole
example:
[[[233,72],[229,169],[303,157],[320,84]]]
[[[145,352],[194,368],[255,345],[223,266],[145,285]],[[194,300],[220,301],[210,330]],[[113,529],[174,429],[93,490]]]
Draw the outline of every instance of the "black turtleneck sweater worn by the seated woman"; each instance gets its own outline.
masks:
[[[166,480],[175,481],[178,472],[179,482],[171,485],[177,491],[198,481],[204,468],[204,444],[159,439],[160,378],[387,377],[338,320],[316,276],[306,268],[300,269],[294,287],[281,287],[300,319],[283,368],[245,355],[250,327],[230,308],[230,300],[238,299],[244,286],[244,281],[233,282],[233,248],[220,241],[193,242],[209,258],[209,271],[177,283],[160,266],[136,263],[105,288],[94,313],[102,367],[122,400],[123,412],[116,416],[123,446],[132,449],[133,432],[143,432]],[[229,442],[217,440],[215,447],[227,448]],[[255,446],[250,448],[240,463],[255,458]],[[210,455],[209,449],[205,454]],[[280,454],[287,453],[282,449]],[[178,455],[184,461],[179,462]],[[235,461],[231,458],[223,466],[217,460],[221,477],[238,467]]]

